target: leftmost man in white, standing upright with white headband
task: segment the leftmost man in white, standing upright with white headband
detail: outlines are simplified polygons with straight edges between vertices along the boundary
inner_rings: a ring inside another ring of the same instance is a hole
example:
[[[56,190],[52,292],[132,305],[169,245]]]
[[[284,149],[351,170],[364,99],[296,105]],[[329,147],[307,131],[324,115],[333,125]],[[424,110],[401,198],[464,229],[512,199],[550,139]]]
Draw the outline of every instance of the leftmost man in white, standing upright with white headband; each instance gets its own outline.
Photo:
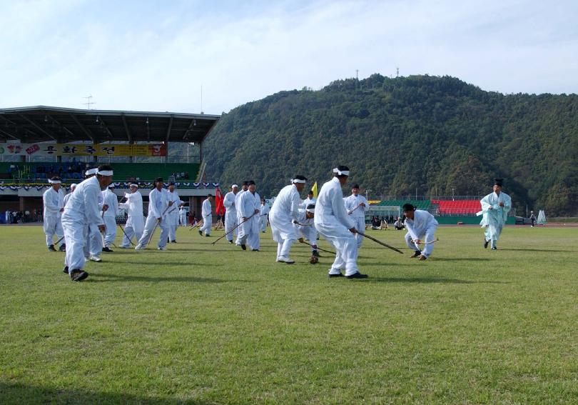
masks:
[[[56,251],[54,249],[54,242],[52,239],[56,234],[57,239],[64,236],[62,230],[61,217],[64,211],[64,191],[60,186],[62,179],[55,176],[49,180],[50,188],[44,191],[42,201],[44,203],[44,234],[46,235],[46,247],[49,251]],[[60,245],[60,251],[66,250],[64,241]]]

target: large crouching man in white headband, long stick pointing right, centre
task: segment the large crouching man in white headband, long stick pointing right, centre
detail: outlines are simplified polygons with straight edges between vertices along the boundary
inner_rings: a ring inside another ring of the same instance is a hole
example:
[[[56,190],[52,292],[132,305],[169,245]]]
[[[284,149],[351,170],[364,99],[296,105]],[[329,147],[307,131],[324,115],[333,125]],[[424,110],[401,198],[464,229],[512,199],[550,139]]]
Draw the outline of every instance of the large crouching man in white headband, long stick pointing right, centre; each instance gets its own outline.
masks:
[[[343,277],[345,268],[348,279],[367,279],[358,269],[358,242],[355,240],[353,220],[345,211],[342,186],[348,181],[349,168],[337,166],[333,179],[323,184],[315,204],[315,229],[335,247],[335,261],[329,269],[329,277]]]

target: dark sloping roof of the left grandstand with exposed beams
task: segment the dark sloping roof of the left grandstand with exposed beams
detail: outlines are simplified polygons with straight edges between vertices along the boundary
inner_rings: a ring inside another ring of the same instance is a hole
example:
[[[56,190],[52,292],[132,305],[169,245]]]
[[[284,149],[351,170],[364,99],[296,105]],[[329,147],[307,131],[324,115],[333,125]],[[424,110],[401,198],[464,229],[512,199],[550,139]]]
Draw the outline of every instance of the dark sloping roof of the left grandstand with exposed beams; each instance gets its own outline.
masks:
[[[116,111],[30,106],[0,109],[0,139],[201,143],[220,116],[156,111]]]

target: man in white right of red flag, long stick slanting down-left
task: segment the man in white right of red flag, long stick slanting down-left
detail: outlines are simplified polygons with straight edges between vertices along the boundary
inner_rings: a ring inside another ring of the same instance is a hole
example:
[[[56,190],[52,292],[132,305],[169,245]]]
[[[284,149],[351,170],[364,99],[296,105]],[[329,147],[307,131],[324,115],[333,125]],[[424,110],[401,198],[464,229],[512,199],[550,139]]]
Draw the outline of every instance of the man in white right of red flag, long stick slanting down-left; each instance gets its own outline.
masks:
[[[241,194],[237,211],[240,216],[239,234],[237,236],[241,249],[246,250],[247,245],[251,250],[259,251],[259,206],[261,198],[255,191],[255,181],[250,180],[247,191]],[[238,193],[240,194],[240,193]]]

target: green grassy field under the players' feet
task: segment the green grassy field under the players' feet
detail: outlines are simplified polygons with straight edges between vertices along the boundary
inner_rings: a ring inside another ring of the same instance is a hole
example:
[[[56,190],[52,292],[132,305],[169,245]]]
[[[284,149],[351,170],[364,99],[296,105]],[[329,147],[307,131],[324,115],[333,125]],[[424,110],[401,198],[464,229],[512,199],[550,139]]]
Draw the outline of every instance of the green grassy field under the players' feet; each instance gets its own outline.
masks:
[[[304,245],[276,264],[262,236],[179,229],[73,283],[41,227],[1,227],[0,403],[578,402],[577,228],[507,228],[498,251],[440,228],[425,262],[366,240],[367,280],[328,279]]]

